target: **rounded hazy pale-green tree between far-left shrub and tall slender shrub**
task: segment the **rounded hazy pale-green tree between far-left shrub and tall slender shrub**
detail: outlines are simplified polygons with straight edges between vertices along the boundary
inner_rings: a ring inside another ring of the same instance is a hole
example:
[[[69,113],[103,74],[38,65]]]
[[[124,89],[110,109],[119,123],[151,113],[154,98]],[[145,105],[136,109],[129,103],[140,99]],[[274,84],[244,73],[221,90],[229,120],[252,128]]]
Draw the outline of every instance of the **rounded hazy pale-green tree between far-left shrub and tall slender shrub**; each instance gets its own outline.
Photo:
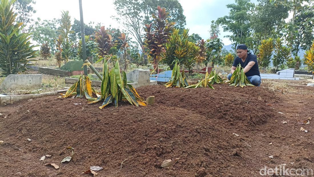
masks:
[[[60,24],[59,19],[43,20],[38,19],[35,24],[30,26],[32,39],[38,44],[48,43],[51,51],[56,51],[55,39],[58,37],[57,24]]]

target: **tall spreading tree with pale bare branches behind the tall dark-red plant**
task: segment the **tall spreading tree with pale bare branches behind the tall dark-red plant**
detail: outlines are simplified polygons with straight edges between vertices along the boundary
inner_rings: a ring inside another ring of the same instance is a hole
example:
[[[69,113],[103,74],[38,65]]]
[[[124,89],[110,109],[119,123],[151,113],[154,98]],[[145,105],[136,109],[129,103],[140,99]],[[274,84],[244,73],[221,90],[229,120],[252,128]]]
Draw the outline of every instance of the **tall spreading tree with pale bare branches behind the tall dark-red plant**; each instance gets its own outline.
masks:
[[[154,19],[152,13],[156,12],[156,7],[165,7],[169,12],[170,22],[176,22],[176,27],[182,28],[185,25],[185,16],[183,9],[178,0],[115,0],[115,10],[117,17],[112,17],[117,20],[138,42],[139,46],[143,46],[143,28],[144,24],[150,24]]]

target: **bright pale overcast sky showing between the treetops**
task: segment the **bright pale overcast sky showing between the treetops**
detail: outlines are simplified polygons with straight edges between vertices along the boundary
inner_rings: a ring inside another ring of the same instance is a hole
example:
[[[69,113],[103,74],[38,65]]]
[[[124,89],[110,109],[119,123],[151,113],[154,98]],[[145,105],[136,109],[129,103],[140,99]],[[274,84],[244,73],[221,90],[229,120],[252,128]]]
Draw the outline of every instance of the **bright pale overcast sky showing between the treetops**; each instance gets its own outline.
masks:
[[[257,0],[251,0],[256,2]],[[84,23],[88,24],[90,21],[95,23],[100,22],[106,27],[123,29],[115,20],[111,19],[111,15],[115,15],[113,0],[82,0]],[[228,15],[229,9],[226,4],[234,3],[234,0],[179,0],[183,7],[183,14],[186,16],[186,28],[190,29],[189,34],[197,33],[203,39],[209,38],[210,24],[212,20]],[[61,11],[68,10],[72,21],[79,19],[79,5],[78,0],[36,0],[34,5],[37,11],[33,18],[38,17],[41,20],[61,18]],[[224,38],[230,33],[224,32],[221,29],[219,38],[223,40],[225,45],[230,45],[231,41]]]

